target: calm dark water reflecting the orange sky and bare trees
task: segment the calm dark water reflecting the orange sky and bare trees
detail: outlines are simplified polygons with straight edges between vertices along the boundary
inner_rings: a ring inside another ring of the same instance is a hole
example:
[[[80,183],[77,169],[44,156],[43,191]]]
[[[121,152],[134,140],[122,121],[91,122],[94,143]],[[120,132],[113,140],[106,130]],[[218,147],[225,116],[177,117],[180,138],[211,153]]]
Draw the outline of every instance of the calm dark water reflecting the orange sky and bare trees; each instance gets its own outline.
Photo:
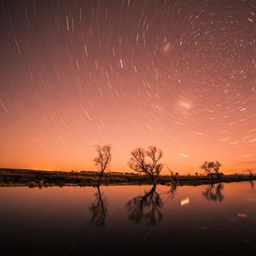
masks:
[[[0,188],[1,255],[256,249],[256,183]]]

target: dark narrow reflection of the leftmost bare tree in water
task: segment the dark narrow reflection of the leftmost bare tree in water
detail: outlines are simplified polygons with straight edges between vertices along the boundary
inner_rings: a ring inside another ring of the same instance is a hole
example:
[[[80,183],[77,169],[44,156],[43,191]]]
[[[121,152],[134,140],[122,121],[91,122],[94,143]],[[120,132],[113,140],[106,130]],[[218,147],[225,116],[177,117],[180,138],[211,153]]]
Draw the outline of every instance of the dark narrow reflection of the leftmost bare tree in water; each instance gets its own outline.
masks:
[[[90,204],[89,211],[92,217],[90,223],[96,227],[103,227],[108,215],[107,198],[101,193],[100,186],[96,186],[95,201]]]

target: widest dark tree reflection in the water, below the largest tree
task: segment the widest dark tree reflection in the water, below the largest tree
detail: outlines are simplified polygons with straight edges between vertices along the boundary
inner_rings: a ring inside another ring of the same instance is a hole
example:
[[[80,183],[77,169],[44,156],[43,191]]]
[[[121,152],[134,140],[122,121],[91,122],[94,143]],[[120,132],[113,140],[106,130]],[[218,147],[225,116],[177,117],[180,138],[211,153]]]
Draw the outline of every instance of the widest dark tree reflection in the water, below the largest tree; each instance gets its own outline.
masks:
[[[128,219],[138,224],[143,220],[148,225],[160,223],[162,219],[161,207],[163,201],[160,194],[156,192],[156,185],[149,191],[145,191],[144,195],[138,195],[126,203],[129,212]]]

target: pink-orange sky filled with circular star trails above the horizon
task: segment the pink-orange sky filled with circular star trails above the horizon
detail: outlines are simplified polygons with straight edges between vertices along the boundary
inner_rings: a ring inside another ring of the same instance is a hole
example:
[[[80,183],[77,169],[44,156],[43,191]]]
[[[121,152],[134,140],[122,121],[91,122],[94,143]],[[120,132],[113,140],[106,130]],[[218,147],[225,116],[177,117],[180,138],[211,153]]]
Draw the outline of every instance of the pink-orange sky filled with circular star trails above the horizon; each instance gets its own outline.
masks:
[[[0,166],[129,172],[256,167],[256,2],[1,1]],[[201,171],[200,171],[201,172]]]

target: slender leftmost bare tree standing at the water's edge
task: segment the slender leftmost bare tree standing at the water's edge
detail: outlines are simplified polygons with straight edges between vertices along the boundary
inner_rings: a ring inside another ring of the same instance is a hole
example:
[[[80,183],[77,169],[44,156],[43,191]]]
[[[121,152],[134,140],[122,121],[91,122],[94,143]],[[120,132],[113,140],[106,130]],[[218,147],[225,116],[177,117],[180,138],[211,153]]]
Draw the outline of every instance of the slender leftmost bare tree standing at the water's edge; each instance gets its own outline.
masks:
[[[110,145],[96,145],[97,156],[93,160],[95,165],[99,169],[99,180],[98,184],[101,183],[103,172],[108,168],[109,163],[112,159],[111,146]]]

